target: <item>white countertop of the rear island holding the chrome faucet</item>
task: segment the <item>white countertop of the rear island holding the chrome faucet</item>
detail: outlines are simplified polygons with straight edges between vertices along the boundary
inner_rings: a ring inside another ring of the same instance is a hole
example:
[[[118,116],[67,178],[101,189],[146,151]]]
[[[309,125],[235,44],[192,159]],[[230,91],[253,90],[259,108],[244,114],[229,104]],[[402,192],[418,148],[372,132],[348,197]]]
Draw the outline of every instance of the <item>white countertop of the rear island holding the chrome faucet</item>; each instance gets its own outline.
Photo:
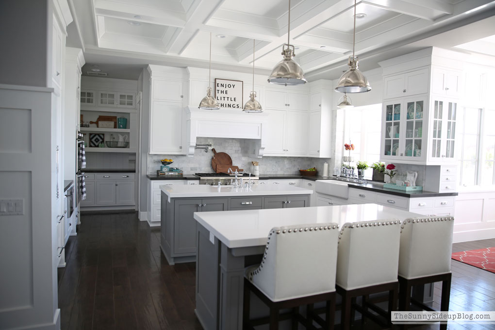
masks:
[[[160,186],[167,196],[170,198],[182,197],[221,197],[221,196],[268,196],[268,195],[304,195],[313,193],[313,190],[300,187],[287,187],[277,185],[257,185],[251,189],[235,188],[232,186],[217,186],[209,185],[177,185],[177,186]]]

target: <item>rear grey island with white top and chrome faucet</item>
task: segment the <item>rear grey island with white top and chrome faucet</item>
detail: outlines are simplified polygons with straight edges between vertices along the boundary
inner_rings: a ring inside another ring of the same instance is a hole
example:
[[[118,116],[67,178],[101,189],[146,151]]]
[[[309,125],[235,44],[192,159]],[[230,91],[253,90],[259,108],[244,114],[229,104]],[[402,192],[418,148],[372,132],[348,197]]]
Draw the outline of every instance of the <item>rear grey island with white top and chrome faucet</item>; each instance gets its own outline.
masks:
[[[196,261],[195,212],[308,207],[309,195],[313,193],[300,187],[264,185],[163,185],[160,190],[160,247],[170,265]]]

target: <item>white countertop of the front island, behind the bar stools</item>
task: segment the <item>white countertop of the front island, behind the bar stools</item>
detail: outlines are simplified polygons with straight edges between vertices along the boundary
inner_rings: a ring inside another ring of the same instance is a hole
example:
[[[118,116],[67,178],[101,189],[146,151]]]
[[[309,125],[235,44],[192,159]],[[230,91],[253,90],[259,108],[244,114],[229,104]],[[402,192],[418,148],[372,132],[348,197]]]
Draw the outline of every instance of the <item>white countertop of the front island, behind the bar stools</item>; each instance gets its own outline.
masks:
[[[265,245],[274,227],[333,222],[342,228],[346,223],[414,217],[421,215],[378,204],[194,213],[198,223],[230,248]]]

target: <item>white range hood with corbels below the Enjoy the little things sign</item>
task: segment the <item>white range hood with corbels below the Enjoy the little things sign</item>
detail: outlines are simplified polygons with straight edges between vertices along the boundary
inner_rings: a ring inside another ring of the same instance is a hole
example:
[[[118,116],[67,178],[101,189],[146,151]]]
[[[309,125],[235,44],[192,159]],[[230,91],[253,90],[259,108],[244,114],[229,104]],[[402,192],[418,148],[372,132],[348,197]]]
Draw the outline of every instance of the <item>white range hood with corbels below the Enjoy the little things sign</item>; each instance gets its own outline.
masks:
[[[186,155],[193,156],[198,137],[254,139],[256,156],[263,156],[267,137],[267,113],[246,113],[242,110],[203,110],[187,106],[184,109],[186,126]],[[184,147],[184,145],[183,145]]]

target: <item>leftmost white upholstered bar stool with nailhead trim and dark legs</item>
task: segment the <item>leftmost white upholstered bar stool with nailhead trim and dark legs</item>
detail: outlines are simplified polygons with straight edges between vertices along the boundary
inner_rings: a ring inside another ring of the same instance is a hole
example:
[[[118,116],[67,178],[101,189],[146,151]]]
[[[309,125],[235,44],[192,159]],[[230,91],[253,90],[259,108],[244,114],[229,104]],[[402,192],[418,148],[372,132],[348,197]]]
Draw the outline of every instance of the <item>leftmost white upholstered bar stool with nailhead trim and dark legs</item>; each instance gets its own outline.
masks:
[[[246,269],[244,281],[244,329],[269,323],[278,329],[279,320],[292,319],[293,329],[311,319],[299,315],[299,306],[326,302],[326,327],[333,329],[335,274],[339,225],[335,223],[273,228],[260,265]],[[250,291],[270,309],[269,318],[249,320]],[[291,308],[289,317],[280,309]]]

